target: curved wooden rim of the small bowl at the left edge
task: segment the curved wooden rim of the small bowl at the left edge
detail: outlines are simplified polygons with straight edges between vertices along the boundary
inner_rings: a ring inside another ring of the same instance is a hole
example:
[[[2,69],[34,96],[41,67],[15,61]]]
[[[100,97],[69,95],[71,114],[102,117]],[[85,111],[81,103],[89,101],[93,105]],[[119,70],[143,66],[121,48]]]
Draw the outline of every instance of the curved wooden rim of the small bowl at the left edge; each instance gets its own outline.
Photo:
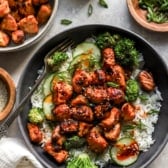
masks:
[[[0,121],[2,121],[9,115],[14,106],[16,99],[16,87],[9,73],[3,68],[0,68],[0,80],[2,80],[2,82],[6,85],[8,95],[7,103],[2,111],[0,111]]]

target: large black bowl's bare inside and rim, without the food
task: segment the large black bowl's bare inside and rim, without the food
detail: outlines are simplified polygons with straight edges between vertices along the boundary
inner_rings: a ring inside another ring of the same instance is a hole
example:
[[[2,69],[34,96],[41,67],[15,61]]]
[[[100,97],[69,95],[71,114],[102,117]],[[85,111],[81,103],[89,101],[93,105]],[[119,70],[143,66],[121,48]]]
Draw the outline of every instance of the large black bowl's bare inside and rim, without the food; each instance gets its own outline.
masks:
[[[155,132],[153,138],[155,143],[149,149],[148,152],[142,153],[138,158],[137,162],[129,166],[130,168],[143,168],[147,167],[161,152],[163,147],[167,143],[168,139],[168,69],[166,64],[162,60],[161,56],[151,47],[151,45],[145,41],[143,38],[137,34],[130,32],[128,30],[123,30],[121,28],[112,27],[108,25],[86,25],[81,27],[76,27],[60,33],[46,42],[43,46],[36,50],[32,59],[26,66],[22,77],[19,81],[18,87],[18,101],[22,100],[24,95],[28,92],[29,87],[34,84],[38,74],[37,71],[42,68],[44,56],[54,48],[61,40],[68,37],[73,39],[76,43],[84,41],[86,38],[92,35],[99,34],[101,32],[111,32],[118,33],[125,37],[128,37],[136,42],[136,47],[140,52],[142,52],[145,59],[145,67],[149,69],[156,81],[156,85],[162,93],[163,102],[161,107],[161,112],[159,114],[158,123],[155,126]],[[27,123],[27,113],[30,109],[30,102],[27,103],[23,109],[23,112],[19,116],[19,127],[21,133],[33,154],[39,159],[39,161],[47,168],[61,167],[57,165],[52,158],[50,158],[40,147],[33,145],[28,136],[28,131],[26,128]],[[117,167],[108,165],[107,167]]]

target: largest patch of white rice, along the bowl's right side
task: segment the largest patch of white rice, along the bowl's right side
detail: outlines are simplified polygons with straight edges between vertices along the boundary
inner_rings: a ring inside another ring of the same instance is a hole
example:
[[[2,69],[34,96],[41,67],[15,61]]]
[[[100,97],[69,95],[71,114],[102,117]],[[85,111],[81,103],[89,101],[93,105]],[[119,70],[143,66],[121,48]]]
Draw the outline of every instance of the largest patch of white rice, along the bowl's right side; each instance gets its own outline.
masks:
[[[138,106],[136,111],[135,122],[141,121],[144,130],[135,129],[134,138],[139,144],[141,151],[146,152],[150,146],[155,142],[152,138],[152,133],[154,132],[155,124],[158,121],[158,113],[149,114],[151,110],[160,111],[161,108],[161,93],[158,88],[155,88],[155,91],[150,93],[148,100],[142,102],[139,98],[134,102],[135,106]]]

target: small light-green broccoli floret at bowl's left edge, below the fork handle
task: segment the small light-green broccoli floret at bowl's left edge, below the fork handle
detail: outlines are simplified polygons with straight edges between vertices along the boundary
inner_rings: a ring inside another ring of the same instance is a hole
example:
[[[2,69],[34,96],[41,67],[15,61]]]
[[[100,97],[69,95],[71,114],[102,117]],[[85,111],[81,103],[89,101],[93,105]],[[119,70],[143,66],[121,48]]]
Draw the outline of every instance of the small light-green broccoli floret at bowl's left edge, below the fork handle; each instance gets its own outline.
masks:
[[[44,113],[41,108],[33,107],[28,113],[28,120],[34,124],[41,124],[44,121]]]

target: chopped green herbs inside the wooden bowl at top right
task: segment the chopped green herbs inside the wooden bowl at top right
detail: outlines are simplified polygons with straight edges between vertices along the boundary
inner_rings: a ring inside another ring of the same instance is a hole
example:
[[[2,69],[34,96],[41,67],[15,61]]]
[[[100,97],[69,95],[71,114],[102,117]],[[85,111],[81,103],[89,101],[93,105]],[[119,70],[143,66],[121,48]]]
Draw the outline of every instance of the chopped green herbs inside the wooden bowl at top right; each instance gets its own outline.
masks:
[[[139,7],[147,10],[149,22],[168,22],[168,0],[139,0]]]

